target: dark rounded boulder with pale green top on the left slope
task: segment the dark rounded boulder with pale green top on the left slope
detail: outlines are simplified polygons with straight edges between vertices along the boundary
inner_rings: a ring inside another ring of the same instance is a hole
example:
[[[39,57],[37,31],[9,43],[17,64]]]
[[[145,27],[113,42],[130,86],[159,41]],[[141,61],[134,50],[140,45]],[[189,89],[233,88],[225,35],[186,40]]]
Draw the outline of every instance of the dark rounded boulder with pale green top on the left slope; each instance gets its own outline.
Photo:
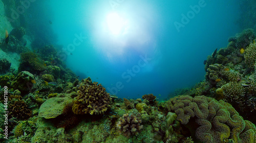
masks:
[[[20,92],[27,92],[33,86],[34,75],[28,71],[22,71],[12,80],[11,87]]]

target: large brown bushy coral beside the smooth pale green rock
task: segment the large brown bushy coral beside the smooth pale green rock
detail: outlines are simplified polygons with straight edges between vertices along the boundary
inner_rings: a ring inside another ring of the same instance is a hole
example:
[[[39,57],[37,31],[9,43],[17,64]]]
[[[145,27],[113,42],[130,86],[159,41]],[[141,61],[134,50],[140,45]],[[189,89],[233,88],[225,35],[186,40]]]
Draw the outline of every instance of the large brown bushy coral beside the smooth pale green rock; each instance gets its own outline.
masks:
[[[75,114],[103,114],[110,107],[111,101],[110,94],[105,90],[98,82],[82,82],[77,91],[78,96],[74,101],[73,112]]]

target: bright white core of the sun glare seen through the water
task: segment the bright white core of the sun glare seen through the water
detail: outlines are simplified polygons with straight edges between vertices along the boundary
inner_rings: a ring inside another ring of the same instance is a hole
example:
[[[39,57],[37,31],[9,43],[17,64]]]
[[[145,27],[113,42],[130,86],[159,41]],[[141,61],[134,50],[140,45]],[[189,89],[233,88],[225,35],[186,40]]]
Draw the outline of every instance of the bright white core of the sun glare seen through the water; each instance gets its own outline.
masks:
[[[117,13],[110,13],[107,16],[108,27],[113,35],[119,35],[124,28],[125,21]]]

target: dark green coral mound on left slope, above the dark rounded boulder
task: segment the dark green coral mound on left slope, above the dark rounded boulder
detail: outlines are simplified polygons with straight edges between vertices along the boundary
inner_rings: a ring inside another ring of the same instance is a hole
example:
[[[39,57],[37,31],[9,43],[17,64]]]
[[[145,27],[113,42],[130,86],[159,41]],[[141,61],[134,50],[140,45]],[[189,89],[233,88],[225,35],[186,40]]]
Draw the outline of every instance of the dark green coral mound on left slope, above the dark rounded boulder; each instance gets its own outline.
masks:
[[[31,73],[38,73],[46,70],[44,61],[40,60],[37,54],[33,52],[20,53],[20,60],[18,71],[27,70]]]

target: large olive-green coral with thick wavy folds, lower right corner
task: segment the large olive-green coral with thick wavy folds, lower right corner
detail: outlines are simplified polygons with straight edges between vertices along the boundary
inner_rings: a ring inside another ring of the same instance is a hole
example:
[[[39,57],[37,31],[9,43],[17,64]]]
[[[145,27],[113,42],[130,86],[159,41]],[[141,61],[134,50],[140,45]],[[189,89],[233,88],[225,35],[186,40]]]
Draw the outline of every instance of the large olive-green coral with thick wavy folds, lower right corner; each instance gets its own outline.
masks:
[[[177,120],[190,126],[191,133],[195,130],[197,139],[202,142],[223,142],[227,139],[234,142],[256,141],[255,125],[244,121],[223,100],[217,101],[205,96],[177,96],[170,99],[169,103],[170,110],[177,114]]]

